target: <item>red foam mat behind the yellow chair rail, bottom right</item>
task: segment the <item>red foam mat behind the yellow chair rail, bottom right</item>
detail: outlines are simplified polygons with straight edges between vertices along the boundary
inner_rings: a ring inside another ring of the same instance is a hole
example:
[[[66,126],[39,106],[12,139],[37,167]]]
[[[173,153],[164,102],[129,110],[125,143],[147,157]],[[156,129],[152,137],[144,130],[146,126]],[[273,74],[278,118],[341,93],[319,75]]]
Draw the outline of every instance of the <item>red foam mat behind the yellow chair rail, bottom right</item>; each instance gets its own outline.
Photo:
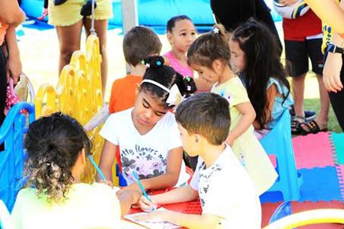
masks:
[[[262,227],[265,227],[270,217],[272,216],[275,209],[281,204],[280,203],[266,203],[262,205]],[[291,203],[291,209],[292,213],[300,212],[300,211],[307,211],[307,210],[313,210],[313,209],[320,209],[320,208],[338,208],[338,209],[344,209],[343,202],[341,201],[318,201],[318,202],[297,202],[292,201]],[[314,224],[314,225],[308,225],[303,227],[298,227],[302,229],[343,229],[342,224],[336,224],[336,223],[322,223],[322,224]]]

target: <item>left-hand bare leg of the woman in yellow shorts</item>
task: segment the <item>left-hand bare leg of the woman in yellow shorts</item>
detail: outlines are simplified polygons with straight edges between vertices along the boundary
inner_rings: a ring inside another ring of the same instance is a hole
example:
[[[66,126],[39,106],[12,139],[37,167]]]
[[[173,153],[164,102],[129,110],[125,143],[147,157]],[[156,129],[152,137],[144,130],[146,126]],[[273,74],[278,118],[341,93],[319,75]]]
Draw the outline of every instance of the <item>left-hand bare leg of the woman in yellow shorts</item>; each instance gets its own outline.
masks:
[[[61,70],[65,65],[69,64],[73,52],[80,49],[82,26],[82,20],[69,26],[56,26],[58,42],[60,43],[58,74],[61,73]]]

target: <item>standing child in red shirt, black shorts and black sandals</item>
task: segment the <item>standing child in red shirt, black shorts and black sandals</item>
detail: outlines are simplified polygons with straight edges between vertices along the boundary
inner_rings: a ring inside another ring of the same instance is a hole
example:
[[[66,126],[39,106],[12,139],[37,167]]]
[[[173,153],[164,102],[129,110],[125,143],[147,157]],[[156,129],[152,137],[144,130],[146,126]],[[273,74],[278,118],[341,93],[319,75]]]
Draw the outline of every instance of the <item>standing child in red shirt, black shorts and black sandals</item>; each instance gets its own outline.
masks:
[[[291,5],[297,0],[283,0],[282,3]],[[306,135],[327,131],[329,122],[330,99],[324,87],[322,45],[322,24],[320,18],[309,9],[304,15],[294,19],[283,18],[284,46],[286,60],[291,63],[291,71],[288,74],[292,77],[293,98],[295,100],[295,117],[291,122],[293,134]],[[306,122],[304,111],[304,86],[305,77],[309,71],[309,59],[312,64],[312,71],[315,73],[319,85],[320,110],[318,116]]]

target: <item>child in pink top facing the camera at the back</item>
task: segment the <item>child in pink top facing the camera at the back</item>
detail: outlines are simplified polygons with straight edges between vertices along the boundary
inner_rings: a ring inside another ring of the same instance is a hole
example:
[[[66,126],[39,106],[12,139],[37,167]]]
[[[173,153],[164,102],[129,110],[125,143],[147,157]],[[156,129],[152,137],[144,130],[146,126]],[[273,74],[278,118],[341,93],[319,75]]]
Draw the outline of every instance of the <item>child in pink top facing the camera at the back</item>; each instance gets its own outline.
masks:
[[[165,65],[172,67],[184,77],[193,78],[194,72],[187,64],[186,52],[196,39],[195,25],[186,15],[179,15],[167,22],[166,29],[167,39],[172,46],[172,50],[164,54]],[[200,91],[208,91],[211,88],[211,85],[202,79],[195,79],[195,83]]]

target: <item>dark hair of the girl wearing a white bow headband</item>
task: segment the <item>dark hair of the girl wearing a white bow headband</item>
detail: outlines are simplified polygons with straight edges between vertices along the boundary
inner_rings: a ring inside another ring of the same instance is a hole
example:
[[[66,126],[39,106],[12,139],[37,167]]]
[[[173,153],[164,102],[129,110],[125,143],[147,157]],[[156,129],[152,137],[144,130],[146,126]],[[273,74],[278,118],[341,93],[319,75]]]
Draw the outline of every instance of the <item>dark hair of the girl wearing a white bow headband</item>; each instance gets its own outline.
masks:
[[[197,90],[193,78],[183,78],[173,68],[163,65],[164,58],[162,56],[149,56],[143,61],[145,65],[149,66],[146,69],[146,73],[144,73],[143,79],[151,79],[169,89],[176,84],[180,94],[185,97],[189,97]],[[141,84],[140,91],[150,92],[165,108],[173,108],[173,106],[169,106],[166,103],[169,93],[162,88],[144,82]]]

